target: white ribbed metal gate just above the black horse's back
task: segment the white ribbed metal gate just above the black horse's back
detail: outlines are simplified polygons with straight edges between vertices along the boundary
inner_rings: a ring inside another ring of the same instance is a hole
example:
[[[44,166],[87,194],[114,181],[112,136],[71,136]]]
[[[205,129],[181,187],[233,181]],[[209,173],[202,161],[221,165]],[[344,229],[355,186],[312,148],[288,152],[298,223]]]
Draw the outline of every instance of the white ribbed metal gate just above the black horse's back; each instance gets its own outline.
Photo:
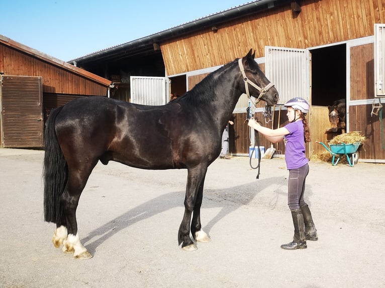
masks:
[[[168,102],[167,78],[131,76],[131,102],[143,105],[164,105]]]

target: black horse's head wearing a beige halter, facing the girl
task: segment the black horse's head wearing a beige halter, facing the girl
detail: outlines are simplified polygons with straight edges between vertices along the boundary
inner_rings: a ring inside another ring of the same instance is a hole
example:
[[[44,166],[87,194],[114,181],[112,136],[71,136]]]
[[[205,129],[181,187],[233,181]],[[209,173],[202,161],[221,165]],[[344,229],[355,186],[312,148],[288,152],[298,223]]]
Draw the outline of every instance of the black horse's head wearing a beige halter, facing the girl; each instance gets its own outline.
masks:
[[[275,105],[279,99],[278,91],[274,84],[266,78],[258,63],[254,61],[254,56],[255,52],[252,53],[252,49],[250,49],[245,57],[238,60],[245,83],[244,93],[247,94],[247,97],[262,99],[270,106]]]

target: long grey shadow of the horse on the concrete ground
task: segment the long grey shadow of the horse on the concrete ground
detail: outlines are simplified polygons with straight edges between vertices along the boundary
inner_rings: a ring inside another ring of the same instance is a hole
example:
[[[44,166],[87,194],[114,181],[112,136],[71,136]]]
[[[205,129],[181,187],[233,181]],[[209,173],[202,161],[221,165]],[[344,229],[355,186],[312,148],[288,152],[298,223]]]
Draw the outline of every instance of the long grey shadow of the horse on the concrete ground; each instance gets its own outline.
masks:
[[[227,189],[205,190],[202,208],[221,208],[221,210],[206,225],[203,223],[203,230],[209,233],[215,224],[221,221],[226,215],[250,203],[261,190],[267,188],[272,183],[282,184],[282,186],[286,185],[284,177],[271,177]],[[278,194],[285,194],[285,192],[280,191],[280,189],[275,191]],[[241,192],[241,197],[239,197],[238,192]],[[153,198],[92,230],[82,239],[82,242],[85,244],[87,250],[94,254],[99,245],[123,229],[169,209],[183,207],[184,194],[184,191],[170,192]],[[278,195],[274,198],[277,199]],[[180,220],[182,216],[181,214]],[[177,239],[177,231],[175,231],[175,239]]]

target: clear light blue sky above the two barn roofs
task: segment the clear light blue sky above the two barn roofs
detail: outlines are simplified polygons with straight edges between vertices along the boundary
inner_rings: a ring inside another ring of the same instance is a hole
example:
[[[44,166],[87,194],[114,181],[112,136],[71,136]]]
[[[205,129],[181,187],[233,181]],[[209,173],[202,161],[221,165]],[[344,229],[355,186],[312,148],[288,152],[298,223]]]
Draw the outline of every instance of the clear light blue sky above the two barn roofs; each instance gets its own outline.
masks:
[[[0,0],[0,34],[69,61],[249,2]]]

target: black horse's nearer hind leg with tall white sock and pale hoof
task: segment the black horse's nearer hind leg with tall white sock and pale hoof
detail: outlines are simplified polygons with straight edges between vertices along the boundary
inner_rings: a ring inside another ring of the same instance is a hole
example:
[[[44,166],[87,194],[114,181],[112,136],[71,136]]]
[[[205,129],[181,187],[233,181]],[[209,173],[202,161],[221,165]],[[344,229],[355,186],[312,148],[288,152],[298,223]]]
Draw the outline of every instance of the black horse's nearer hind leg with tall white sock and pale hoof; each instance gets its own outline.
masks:
[[[76,169],[68,168],[68,182],[62,195],[62,202],[64,206],[64,214],[67,220],[68,236],[63,240],[63,252],[73,253],[77,259],[88,259],[92,255],[81,244],[80,237],[77,232],[76,208],[79,203],[81,192],[83,191],[88,177],[95,166],[82,167]],[[56,232],[62,232],[62,226],[56,229]],[[55,233],[56,233],[55,232]]]

